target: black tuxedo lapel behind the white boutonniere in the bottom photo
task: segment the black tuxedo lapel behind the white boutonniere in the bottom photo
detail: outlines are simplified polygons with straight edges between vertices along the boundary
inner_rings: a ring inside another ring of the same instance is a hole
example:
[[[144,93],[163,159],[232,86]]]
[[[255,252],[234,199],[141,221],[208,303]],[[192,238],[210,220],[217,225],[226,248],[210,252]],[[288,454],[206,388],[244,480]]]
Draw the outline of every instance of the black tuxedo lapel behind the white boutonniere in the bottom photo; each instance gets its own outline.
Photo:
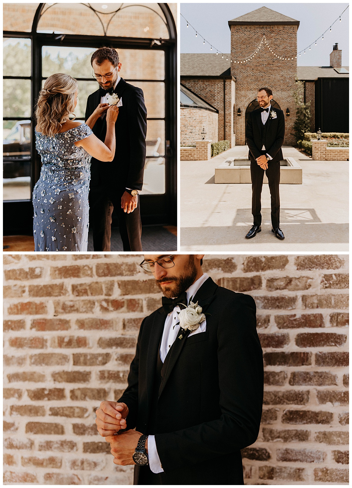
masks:
[[[203,310],[202,312],[205,312],[210,305],[210,303],[214,300],[215,298],[215,290],[218,287],[211,278],[208,278],[205,283],[199,288],[195,296],[192,298],[192,302],[195,303],[198,301],[198,305],[200,305]],[[171,371],[173,367],[175,366],[182,349],[184,348],[186,344],[187,338],[183,337],[183,339],[179,339],[179,336],[177,335],[175,342],[173,343],[171,349],[170,349],[170,356],[168,358],[168,362],[166,365],[166,368],[163,368],[162,370],[162,376],[163,380],[160,385],[159,389],[159,397],[163,392],[163,389],[165,388],[165,385],[167,383],[167,380],[170,377]]]

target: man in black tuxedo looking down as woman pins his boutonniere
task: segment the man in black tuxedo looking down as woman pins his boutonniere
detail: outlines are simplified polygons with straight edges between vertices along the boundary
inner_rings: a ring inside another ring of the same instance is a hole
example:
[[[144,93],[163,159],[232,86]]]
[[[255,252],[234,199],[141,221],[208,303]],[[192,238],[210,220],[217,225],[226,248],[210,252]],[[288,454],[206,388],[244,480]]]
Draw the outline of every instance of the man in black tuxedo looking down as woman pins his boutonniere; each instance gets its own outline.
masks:
[[[110,251],[111,214],[117,212],[124,251],[142,251],[139,192],[145,165],[146,108],[143,91],[120,78],[121,63],[115,49],[102,47],[91,58],[99,90],[89,95],[85,120],[99,106],[101,116],[93,132],[105,140],[108,95],[122,101],[115,123],[116,151],[112,163],[92,158],[89,191],[89,225],[95,251]]]

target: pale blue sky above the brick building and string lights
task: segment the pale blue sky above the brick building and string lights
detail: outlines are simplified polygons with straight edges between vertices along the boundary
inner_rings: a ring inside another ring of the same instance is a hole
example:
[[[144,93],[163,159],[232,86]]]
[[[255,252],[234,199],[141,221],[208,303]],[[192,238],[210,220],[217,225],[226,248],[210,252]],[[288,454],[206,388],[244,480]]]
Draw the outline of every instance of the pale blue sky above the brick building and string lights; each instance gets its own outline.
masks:
[[[219,52],[230,52],[230,29],[228,20],[252,12],[260,7],[268,7],[292,19],[299,20],[297,31],[297,51],[311,46],[311,51],[297,56],[298,66],[329,66],[332,46],[337,42],[342,49],[342,66],[349,65],[349,10],[331,27],[331,23],[348,6],[348,3],[181,3],[180,12],[188,22],[199,32],[186,27],[186,20],[181,16],[181,53],[210,53],[214,47]],[[315,46],[315,40],[320,38]],[[214,47],[203,44],[203,36]],[[216,50],[215,50],[216,52]]]

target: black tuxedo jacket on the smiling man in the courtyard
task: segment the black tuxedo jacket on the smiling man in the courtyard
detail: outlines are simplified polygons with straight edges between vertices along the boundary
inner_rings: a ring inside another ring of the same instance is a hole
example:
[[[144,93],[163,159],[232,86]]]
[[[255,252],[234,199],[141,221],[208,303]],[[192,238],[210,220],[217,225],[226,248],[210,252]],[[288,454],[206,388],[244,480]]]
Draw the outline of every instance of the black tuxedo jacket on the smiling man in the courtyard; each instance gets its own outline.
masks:
[[[267,137],[264,142],[266,153],[272,157],[272,161],[281,161],[283,159],[281,146],[285,139],[285,115],[282,110],[278,108],[270,108],[276,112],[276,119],[269,119],[265,122],[267,127]],[[261,134],[261,110],[253,110],[249,113],[246,126],[246,141],[249,152],[248,158],[250,161],[255,161],[256,158],[263,154],[262,134]],[[269,162],[270,163],[270,162]]]

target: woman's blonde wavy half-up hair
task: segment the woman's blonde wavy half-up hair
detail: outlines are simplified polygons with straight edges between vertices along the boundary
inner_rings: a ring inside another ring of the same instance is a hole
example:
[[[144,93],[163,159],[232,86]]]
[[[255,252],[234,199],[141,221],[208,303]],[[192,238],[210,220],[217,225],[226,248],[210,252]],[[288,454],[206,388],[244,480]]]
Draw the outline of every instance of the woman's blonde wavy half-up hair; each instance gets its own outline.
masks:
[[[36,109],[38,130],[45,136],[53,137],[75,109],[77,80],[70,75],[55,73],[49,76],[44,88],[39,92]]]

